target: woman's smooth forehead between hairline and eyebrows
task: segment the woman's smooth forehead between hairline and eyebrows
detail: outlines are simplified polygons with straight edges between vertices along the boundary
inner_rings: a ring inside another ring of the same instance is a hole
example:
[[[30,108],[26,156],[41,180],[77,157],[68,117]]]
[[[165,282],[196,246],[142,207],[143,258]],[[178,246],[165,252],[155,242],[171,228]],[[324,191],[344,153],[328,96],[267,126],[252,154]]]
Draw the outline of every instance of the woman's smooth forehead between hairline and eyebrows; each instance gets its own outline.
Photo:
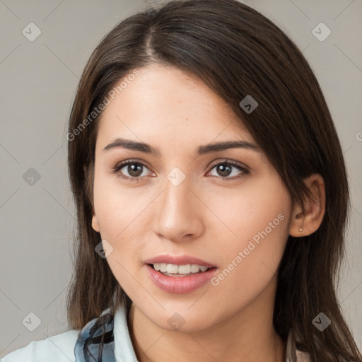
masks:
[[[97,143],[115,136],[185,146],[196,139],[198,144],[230,137],[254,141],[230,107],[194,74],[163,64],[138,70],[110,98],[99,120]]]

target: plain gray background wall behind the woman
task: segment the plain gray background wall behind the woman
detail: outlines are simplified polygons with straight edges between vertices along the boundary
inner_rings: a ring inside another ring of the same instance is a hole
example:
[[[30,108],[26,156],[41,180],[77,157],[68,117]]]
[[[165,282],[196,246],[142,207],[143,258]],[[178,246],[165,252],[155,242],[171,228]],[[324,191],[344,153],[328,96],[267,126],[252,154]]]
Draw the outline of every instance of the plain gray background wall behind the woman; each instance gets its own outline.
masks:
[[[362,1],[244,2],[303,50],[332,112],[353,205],[339,299],[361,349]],[[147,4],[151,2],[0,0],[0,356],[69,330],[65,292],[75,213],[65,135],[71,102],[99,40]],[[33,42],[22,33],[31,22],[42,32]],[[332,31],[324,41],[312,33],[320,22]],[[40,180],[26,177],[34,175],[29,168]],[[30,312],[41,320],[33,332],[22,323]]]

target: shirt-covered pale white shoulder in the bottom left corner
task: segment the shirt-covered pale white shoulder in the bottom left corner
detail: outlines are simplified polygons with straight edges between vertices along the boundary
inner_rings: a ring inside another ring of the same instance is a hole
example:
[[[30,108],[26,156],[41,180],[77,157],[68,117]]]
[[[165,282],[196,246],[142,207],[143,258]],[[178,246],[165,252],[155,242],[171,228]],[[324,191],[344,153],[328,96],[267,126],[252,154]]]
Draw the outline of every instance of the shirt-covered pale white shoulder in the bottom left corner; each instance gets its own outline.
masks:
[[[78,329],[72,329],[41,341],[32,341],[1,358],[1,362],[74,362],[74,345],[78,333]]]

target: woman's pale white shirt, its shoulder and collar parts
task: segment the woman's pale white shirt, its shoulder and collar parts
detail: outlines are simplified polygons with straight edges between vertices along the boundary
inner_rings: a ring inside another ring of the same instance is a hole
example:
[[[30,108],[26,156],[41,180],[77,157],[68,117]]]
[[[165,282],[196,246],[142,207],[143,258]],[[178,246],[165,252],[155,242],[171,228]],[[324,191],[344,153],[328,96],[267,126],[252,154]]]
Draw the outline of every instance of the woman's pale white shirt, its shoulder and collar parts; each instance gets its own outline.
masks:
[[[76,362],[74,346],[78,329],[56,334],[41,341],[32,341],[1,358],[1,362]],[[127,326],[126,310],[119,308],[114,324],[115,358],[117,362],[138,362]],[[309,355],[296,350],[296,362],[310,362]],[[289,362],[289,361],[288,361]],[[290,361],[292,362],[292,361]]]

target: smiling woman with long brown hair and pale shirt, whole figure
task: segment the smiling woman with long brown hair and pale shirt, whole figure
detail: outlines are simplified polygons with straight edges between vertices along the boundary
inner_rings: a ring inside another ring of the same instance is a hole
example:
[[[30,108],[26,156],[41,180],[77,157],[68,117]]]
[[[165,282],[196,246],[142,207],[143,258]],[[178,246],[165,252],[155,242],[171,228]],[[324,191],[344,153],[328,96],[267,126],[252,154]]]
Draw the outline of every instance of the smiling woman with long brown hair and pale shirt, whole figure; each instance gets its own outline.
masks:
[[[335,283],[349,188],[320,86],[254,9],[119,23],[69,121],[72,330],[9,361],[362,361]]]

